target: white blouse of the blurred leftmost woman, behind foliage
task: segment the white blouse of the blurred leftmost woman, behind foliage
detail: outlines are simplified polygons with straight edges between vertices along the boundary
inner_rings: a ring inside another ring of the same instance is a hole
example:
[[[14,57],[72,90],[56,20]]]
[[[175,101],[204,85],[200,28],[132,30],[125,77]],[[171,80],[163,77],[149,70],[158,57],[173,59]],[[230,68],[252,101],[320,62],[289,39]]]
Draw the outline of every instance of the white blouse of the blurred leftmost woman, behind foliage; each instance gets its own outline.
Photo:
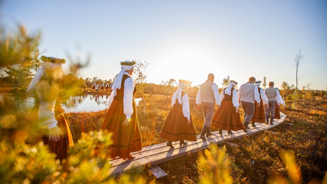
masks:
[[[36,93],[39,97],[39,126],[42,129],[52,129],[57,127],[55,118],[55,105],[58,95],[58,84],[49,85],[48,82],[42,81],[36,87]]]

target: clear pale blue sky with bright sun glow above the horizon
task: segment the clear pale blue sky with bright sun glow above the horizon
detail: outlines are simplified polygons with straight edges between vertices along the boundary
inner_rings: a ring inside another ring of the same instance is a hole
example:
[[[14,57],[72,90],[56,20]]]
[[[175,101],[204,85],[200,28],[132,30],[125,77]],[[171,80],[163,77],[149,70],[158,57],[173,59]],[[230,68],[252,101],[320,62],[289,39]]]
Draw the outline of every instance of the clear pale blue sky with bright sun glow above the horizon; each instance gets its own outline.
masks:
[[[327,86],[326,0],[4,0],[1,23],[41,31],[47,56],[91,53],[83,78],[113,79],[120,61],[150,62],[148,82],[215,75]],[[78,49],[80,46],[81,49]]]

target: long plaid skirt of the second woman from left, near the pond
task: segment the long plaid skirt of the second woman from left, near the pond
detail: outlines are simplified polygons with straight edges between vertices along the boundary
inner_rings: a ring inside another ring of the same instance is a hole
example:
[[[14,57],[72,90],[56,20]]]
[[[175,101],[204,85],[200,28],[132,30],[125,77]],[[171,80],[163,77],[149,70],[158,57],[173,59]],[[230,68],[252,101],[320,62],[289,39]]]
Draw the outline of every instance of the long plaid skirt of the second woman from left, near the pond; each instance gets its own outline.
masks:
[[[126,159],[132,152],[142,150],[142,140],[139,122],[136,115],[136,105],[133,101],[133,114],[127,126],[122,123],[126,120],[122,100],[114,100],[103,120],[102,130],[113,133],[113,144],[107,150],[107,158],[120,157]]]

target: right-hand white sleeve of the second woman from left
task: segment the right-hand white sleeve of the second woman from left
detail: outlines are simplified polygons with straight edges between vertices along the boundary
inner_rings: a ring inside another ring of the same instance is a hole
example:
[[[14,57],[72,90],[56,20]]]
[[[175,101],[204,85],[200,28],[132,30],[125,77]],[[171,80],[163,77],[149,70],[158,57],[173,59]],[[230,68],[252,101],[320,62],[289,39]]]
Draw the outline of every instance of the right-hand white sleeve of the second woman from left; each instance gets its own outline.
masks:
[[[126,119],[130,119],[133,114],[133,91],[134,91],[134,82],[132,78],[127,78],[124,83],[124,114]]]

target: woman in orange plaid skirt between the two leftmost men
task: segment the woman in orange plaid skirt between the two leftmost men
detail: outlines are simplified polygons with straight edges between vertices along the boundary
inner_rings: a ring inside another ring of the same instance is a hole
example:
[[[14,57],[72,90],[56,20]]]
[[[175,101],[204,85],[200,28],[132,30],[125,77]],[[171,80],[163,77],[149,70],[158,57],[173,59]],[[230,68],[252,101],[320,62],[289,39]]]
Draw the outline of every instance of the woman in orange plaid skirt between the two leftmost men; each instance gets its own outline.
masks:
[[[214,112],[211,120],[211,125],[219,129],[220,136],[223,130],[228,131],[228,134],[233,134],[232,130],[246,132],[238,113],[238,93],[234,88],[236,84],[236,81],[230,80],[229,86],[220,93],[221,105]]]

